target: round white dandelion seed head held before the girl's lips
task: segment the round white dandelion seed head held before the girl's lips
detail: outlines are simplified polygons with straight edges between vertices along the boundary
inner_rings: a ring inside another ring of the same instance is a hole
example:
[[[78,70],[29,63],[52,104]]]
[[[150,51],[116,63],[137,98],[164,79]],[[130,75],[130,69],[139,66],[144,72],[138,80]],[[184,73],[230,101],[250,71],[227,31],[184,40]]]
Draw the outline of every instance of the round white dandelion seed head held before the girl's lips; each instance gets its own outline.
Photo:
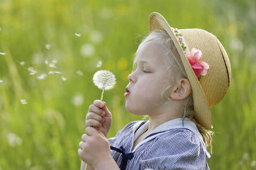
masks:
[[[93,75],[93,83],[101,90],[109,90],[115,86],[116,78],[113,73],[107,70],[99,70]]]

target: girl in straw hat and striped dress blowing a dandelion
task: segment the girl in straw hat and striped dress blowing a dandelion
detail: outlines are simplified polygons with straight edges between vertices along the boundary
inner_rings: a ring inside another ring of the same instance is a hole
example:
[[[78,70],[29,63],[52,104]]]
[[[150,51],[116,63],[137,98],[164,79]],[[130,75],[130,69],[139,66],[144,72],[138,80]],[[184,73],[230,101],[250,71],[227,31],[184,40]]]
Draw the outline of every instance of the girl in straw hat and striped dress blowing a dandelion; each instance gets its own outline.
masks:
[[[111,113],[94,100],[78,149],[88,169],[210,169],[210,107],[225,96],[231,79],[220,41],[205,30],[174,29],[154,12],[134,66],[125,107],[149,120],[133,121],[107,139]]]

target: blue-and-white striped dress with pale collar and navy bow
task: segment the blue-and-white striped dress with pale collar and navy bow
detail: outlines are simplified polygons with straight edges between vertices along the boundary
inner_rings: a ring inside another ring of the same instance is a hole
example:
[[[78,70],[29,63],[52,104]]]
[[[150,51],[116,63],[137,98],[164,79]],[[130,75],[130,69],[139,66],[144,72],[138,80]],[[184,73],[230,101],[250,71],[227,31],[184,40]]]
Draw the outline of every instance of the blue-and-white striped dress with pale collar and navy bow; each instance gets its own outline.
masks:
[[[159,125],[133,151],[133,142],[148,129],[149,121],[133,121],[109,138],[111,156],[123,169],[210,169],[202,135],[189,118]]]

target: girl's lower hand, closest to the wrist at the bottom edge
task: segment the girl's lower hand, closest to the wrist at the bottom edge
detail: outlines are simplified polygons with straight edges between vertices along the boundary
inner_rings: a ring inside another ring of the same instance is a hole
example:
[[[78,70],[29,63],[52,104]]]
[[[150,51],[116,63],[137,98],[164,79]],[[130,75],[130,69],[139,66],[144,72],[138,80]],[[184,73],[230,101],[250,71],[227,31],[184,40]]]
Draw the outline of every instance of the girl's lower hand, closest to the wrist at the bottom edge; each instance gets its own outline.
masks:
[[[113,159],[108,139],[92,127],[86,128],[79,147],[78,155],[92,168],[102,166]]]

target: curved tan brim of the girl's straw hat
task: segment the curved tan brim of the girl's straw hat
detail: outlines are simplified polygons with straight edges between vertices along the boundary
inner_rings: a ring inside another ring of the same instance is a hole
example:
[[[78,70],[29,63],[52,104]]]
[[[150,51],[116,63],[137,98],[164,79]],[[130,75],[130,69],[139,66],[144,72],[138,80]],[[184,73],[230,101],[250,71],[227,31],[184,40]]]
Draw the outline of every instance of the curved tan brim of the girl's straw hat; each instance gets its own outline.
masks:
[[[191,84],[191,88],[192,88],[195,120],[199,124],[201,124],[205,129],[207,129],[207,130],[211,129],[212,116],[211,116],[210,107],[207,103],[204,91],[203,91],[192,67],[189,64],[187,57],[184,54],[179,41],[175,37],[170,25],[167,23],[167,21],[164,19],[164,17],[161,14],[159,14],[157,12],[153,12],[149,16],[149,32],[156,30],[156,29],[165,30],[168,33],[168,35],[171,37],[175,47],[177,48],[177,50],[179,52],[182,64],[185,67],[185,71],[187,73],[188,80],[189,80],[189,82]]]

